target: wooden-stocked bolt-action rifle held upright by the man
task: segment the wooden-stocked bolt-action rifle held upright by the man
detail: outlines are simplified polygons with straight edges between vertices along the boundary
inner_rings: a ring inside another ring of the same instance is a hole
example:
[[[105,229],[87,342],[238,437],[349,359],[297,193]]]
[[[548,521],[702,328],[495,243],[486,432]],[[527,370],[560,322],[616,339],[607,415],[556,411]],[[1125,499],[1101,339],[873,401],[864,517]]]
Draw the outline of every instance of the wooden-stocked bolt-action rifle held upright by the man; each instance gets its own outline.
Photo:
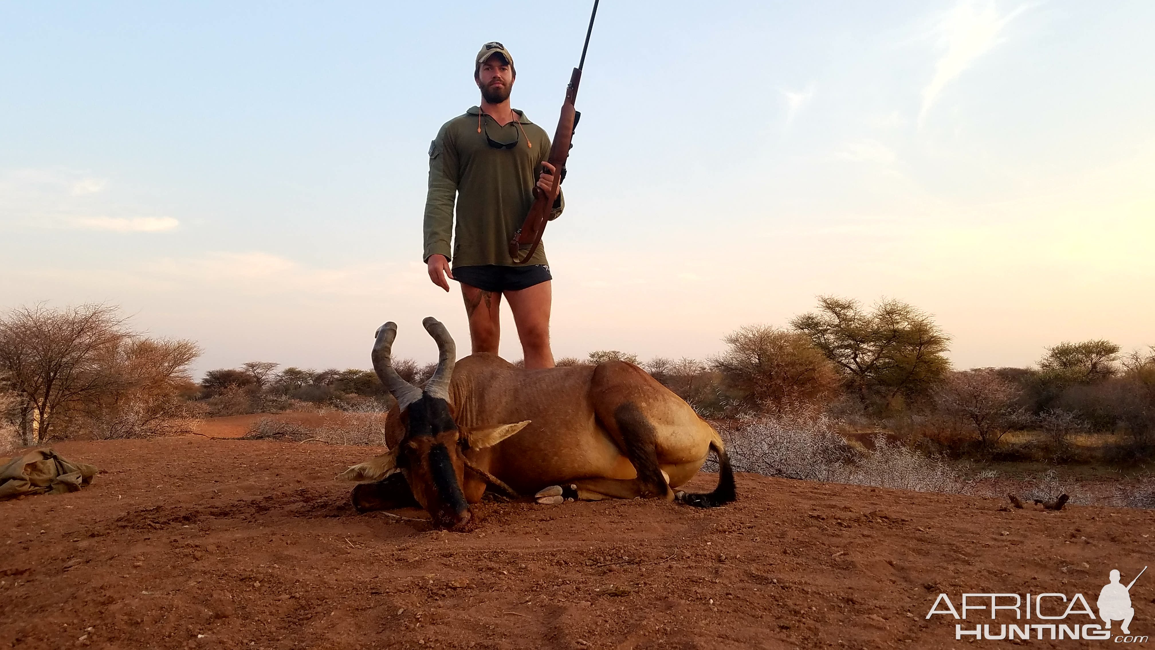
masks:
[[[586,65],[586,50],[589,47],[589,35],[594,31],[594,16],[597,15],[597,2],[594,0],[594,12],[589,16],[589,29],[586,30],[586,44],[581,49],[581,61],[569,75],[569,86],[566,87],[566,101],[561,104],[561,117],[558,118],[558,130],[553,132],[553,145],[550,147],[550,164],[553,165],[553,186],[549,192],[543,192],[541,187],[534,186],[534,205],[526,215],[526,221],[521,228],[514,232],[509,239],[509,257],[514,264],[526,264],[529,258],[537,252],[537,246],[542,244],[542,234],[545,232],[545,224],[550,221],[553,212],[553,204],[561,192],[561,179],[566,177],[566,158],[569,157],[569,149],[573,147],[574,128],[581,113],[574,110],[574,101],[578,99],[578,86],[581,83],[581,69]],[[521,252],[522,246],[529,246],[529,252]]]

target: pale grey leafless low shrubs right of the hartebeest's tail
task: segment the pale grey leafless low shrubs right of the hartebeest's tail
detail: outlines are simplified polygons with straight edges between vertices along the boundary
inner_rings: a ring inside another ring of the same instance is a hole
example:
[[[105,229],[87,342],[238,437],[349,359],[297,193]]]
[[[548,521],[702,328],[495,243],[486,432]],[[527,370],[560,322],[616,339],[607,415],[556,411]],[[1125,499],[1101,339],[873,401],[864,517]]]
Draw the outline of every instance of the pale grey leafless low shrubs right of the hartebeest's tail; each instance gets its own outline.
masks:
[[[874,450],[852,446],[840,422],[814,407],[773,415],[745,415],[721,424],[733,468],[767,477],[875,486],[915,492],[970,494],[968,478],[942,457],[921,453],[885,436]]]

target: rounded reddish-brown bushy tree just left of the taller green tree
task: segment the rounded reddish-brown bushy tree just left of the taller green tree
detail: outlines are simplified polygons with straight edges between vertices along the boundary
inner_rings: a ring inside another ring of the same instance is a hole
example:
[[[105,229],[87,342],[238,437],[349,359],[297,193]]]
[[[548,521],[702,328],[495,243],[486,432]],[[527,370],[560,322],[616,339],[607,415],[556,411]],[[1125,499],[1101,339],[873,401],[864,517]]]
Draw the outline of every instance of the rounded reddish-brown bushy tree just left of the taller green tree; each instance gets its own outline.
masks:
[[[825,402],[837,390],[834,364],[802,332],[746,325],[723,340],[729,349],[710,363],[750,406],[781,413],[795,402]]]

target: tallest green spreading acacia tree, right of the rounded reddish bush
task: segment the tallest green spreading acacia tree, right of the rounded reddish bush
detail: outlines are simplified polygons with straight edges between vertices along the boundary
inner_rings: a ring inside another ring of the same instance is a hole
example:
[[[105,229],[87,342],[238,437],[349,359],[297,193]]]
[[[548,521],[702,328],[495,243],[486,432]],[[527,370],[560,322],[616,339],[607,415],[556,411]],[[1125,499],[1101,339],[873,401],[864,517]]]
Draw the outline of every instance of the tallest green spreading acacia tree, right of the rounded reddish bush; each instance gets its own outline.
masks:
[[[895,407],[902,398],[929,394],[951,368],[945,356],[951,338],[901,301],[880,301],[867,312],[856,300],[820,296],[818,311],[790,325],[839,367],[864,407],[874,398]]]

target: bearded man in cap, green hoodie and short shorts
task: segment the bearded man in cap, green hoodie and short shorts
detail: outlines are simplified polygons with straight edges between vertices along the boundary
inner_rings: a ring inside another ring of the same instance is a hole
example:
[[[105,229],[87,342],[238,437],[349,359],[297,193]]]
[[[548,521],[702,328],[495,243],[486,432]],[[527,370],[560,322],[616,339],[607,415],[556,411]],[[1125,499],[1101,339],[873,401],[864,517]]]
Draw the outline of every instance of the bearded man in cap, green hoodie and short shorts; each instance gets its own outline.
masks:
[[[534,202],[534,187],[549,192],[554,169],[550,138],[509,106],[517,72],[500,43],[486,43],[474,62],[480,106],[445,123],[430,146],[425,200],[425,263],[430,280],[446,291],[461,283],[474,354],[497,354],[501,297],[509,302],[526,368],[552,368],[550,305],[552,275],[545,249],[515,266],[508,243]],[[454,201],[457,226],[450,253]],[[553,205],[561,214],[560,194]],[[449,267],[449,260],[453,267]]]

